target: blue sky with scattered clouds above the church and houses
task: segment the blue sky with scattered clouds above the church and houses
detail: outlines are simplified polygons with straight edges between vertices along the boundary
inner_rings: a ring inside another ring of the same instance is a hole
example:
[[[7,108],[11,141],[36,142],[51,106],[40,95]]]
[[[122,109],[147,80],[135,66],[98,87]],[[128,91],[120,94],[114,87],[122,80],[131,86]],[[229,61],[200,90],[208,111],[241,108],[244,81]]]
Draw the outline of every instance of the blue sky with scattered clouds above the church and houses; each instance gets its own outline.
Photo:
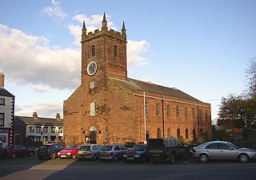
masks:
[[[0,72],[15,115],[52,117],[78,88],[87,33],[126,25],[128,77],[211,104],[246,90],[256,57],[255,0],[0,0]]]

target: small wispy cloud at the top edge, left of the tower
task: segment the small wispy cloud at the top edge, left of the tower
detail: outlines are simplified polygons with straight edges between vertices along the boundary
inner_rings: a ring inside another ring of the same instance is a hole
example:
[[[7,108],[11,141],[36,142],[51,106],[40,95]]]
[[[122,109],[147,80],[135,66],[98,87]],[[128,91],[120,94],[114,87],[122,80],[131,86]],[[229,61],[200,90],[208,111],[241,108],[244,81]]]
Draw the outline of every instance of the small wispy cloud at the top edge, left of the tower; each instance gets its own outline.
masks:
[[[67,14],[62,10],[61,6],[59,6],[61,2],[52,0],[51,3],[52,6],[46,6],[41,10],[40,14],[47,14],[48,16],[57,18],[58,20],[66,18]]]

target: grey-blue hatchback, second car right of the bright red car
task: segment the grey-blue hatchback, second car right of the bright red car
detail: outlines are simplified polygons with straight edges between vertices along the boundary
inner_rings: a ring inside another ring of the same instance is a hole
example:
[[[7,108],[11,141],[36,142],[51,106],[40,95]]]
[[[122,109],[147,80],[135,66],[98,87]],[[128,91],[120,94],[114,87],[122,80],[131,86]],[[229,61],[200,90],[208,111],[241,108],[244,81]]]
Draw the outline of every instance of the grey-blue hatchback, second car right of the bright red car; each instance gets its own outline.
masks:
[[[128,151],[127,147],[119,144],[103,146],[99,158],[100,159],[111,159],[117,162],[123,158],[123,155]]]

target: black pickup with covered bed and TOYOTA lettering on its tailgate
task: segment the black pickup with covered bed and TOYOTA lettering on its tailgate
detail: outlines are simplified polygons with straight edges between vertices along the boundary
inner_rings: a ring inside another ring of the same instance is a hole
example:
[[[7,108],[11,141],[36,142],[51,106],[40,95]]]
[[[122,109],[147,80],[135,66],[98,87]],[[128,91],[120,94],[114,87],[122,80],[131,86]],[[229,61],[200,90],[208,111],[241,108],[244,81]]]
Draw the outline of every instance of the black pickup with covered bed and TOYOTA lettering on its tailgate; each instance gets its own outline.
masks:
[[[148,139],[146,153],[150,155],[150,161],[174,163],[178,157],[189,158],[190,147],[176,138]]]

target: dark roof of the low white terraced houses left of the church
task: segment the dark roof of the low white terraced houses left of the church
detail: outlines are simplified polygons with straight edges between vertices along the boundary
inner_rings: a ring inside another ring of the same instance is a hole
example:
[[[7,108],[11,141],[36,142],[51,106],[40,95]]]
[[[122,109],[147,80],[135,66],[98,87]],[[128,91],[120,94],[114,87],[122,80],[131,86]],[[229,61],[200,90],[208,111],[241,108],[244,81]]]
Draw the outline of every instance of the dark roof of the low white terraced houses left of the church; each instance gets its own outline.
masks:
[[[35,126],[63,126],[62,119],[51,119],[51,118],[34,118],[27,116],[14,116],[14,126],[25,126],[25,125],[35,125]]]

